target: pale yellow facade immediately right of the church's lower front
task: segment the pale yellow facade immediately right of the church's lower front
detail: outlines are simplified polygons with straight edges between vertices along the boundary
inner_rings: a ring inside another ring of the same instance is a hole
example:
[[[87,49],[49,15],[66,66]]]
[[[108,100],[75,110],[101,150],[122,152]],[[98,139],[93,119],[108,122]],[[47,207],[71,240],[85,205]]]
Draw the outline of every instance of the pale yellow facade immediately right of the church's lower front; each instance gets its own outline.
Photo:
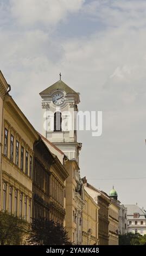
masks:
[[[82,210],[82,245],[98,245],[99,206],[85,189],[85,205]]]

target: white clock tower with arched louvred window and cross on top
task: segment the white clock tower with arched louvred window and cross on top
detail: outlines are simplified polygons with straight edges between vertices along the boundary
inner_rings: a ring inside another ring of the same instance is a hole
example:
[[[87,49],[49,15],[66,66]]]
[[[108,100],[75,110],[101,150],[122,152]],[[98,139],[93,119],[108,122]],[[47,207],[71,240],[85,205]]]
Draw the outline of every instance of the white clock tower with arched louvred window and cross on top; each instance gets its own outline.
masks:
[[[76,93],[61,80],[40,93],[43,109],[43,135],[62,150],[69,160],[79,162],[81,143],[77,142]]]

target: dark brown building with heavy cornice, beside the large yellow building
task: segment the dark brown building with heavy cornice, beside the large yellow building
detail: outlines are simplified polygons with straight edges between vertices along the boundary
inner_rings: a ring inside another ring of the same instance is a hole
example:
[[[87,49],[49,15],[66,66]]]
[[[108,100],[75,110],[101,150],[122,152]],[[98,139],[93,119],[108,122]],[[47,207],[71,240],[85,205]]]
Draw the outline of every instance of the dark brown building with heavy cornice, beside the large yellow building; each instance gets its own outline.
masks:
[[[43,154],[42,154],[43,153]],[[42,217],[64,224],[66,169],[58,157],[50,153],[42,138],[34,144],[34,218]]]

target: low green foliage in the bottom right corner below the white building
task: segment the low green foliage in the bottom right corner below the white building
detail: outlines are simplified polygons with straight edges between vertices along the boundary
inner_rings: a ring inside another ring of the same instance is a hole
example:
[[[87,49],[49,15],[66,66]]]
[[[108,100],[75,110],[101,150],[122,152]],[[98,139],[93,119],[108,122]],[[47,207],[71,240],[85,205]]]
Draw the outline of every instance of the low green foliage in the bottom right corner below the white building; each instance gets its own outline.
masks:
[[[119,235],[119,245],[146,245],[146,235],[127,233]]]

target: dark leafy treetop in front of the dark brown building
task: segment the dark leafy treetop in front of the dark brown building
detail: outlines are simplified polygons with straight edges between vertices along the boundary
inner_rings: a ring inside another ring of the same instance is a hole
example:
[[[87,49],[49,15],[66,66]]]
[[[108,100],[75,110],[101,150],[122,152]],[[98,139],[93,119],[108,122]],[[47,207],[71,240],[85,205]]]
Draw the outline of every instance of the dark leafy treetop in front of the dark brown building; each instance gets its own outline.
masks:
[[[44,218],[33,220],[27,241],[30,245],[71,245],[65,228]]]

